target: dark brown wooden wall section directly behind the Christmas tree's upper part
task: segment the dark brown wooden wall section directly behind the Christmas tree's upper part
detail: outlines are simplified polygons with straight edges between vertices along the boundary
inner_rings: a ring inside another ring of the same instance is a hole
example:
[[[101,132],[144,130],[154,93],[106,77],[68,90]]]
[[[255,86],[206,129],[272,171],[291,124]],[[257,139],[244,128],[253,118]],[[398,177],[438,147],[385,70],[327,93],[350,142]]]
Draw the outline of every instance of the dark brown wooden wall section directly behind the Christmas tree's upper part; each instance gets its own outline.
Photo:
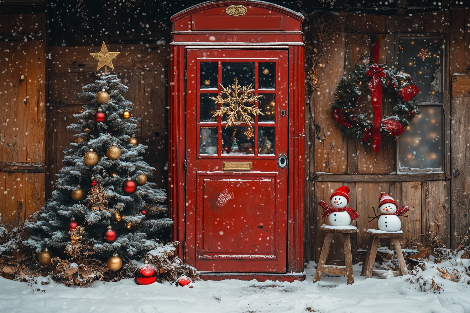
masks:
[[[148,145],[144,160],[156,168],[153,181],[166,188],[167,87],[165,85],[168,49],[157,45],[107,45],[120,54],[113,65],[122,83],[129,87],[124,98],[134,103],[133,116],[141,117],[140,143]],[[89,53],[100,46],[51,47],[49,61],[49,106],[47,128],[50,171],[47,173],[47,194],[54,189],[55,174],[62,168],[63,149],[72,141],[66,127],[74,122],[73,114],[86,104],[76,98],[81,87],[96,80],[97,61]],[[102,69],[101,69],[102,70]]]

